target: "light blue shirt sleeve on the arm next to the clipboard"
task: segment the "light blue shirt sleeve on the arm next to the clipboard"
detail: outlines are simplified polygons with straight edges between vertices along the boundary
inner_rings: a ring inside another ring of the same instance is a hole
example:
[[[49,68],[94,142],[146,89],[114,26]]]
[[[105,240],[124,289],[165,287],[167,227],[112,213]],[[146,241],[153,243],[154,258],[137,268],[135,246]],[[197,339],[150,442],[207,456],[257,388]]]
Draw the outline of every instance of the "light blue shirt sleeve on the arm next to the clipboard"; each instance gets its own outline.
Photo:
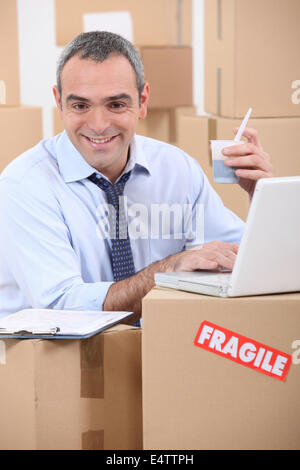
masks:
[[[59,202],[48,187],[41,191],[3,178],[0,226],[1,258],[32,308],[102,310],[112,282],[83,281]]]

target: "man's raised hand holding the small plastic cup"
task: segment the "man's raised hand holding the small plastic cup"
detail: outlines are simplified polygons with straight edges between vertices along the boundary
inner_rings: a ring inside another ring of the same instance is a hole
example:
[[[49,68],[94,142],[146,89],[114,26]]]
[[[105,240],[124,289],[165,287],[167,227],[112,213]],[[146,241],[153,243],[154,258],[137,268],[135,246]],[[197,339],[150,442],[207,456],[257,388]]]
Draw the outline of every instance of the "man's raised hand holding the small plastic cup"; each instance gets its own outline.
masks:
[[[238,127],[234,129],[236,134]],[[247,143],[235,145],[223,149],[222,153],[228,158],[225,165],[238,167],[235,174],[239,177],[239,185],[248,192],[252,199],[256,182],[261,178],[271,178],[273,176],[273,167],[271,157],[264,152],[256,129],[246,128],[243,136],[248,140]]]

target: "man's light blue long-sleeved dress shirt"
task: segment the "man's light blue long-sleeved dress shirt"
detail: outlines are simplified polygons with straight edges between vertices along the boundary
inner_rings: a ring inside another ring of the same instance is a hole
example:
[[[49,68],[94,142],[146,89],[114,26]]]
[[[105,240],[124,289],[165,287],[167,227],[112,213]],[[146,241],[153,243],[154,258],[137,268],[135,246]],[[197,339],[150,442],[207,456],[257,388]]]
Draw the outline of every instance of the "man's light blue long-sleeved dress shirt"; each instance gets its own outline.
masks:
[[[135,136],[124,172],[129,170],[124,196],[136,272],[199,243],[240,241],[244,223],[182,150]],[[95,171],[66,132],[41,141],[3,171],[0,317],[24,308],[102,309],[113,274],[110,239],[103,236],[105,193],[87,179]],[[202,225],[199,233],[184,235],[185,223],[175,216],[172,224],[160,223],[161,204],[192,207],[190,220],[194,228]]]

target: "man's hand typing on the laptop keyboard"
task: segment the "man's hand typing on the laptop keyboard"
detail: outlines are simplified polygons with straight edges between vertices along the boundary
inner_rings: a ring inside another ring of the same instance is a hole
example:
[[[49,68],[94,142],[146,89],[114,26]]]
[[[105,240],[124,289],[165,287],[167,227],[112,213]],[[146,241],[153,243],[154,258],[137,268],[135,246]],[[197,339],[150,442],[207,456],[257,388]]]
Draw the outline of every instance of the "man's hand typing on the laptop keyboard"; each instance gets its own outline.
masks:
[[[232,270],[239,245],[236,243],[210,242],[175,255],[173,271],[227,268]],[[172,257],[171,257],[172,258]]]

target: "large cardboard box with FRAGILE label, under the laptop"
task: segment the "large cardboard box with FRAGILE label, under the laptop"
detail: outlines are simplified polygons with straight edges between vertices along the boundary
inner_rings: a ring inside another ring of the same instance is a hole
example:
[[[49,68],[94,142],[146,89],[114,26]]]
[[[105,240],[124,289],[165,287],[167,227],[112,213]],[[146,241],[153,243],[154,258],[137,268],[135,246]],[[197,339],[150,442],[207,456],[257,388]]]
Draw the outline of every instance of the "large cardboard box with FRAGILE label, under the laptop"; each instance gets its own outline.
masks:
[[[300,294],[152,290],[143,301],[144,448],[299,449],[299,359],[281,381],[194,345],[208,321],[299,358],[299,308]]]

